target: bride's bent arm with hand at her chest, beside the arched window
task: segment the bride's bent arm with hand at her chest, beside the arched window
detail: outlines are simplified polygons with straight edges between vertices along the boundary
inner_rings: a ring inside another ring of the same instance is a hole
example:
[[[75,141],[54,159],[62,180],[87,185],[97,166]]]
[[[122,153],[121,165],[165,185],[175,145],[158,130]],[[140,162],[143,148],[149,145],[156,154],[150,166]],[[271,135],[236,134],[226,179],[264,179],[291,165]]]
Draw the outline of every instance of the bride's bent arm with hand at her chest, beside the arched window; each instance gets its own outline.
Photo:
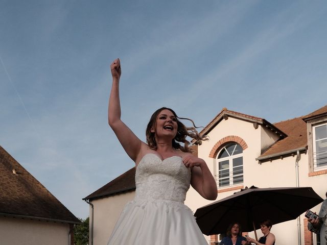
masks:
[[[183,157],[183,163],[186,167],[192,169],[192,187],[199,192],[203,198],[215,200],[218,194],[217,184],[205,161],[192,154],[187,154]]]

